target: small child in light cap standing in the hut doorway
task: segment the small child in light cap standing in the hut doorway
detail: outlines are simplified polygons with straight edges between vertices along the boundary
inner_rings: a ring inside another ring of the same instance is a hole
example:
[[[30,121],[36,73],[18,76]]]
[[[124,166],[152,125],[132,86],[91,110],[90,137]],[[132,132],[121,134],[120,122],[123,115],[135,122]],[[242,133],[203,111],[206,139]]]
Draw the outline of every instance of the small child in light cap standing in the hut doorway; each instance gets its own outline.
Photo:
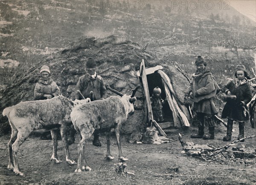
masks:
[[[154,120],[157,122],[163,122],[163,99],[160,97],[161,89],[159,87],[154,88],[153,95],[150,97],[151,107],[153,112]]]

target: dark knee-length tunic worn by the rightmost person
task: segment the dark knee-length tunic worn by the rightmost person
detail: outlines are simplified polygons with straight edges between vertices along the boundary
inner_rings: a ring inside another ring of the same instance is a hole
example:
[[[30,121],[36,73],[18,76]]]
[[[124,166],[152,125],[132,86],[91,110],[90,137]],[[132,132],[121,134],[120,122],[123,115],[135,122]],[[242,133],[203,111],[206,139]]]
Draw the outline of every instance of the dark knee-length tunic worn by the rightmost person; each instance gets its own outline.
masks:
[[[244,83],[241,83],[237,78],[235,78],[225,85],[224,91],[226,93],[227,91],[230,91],[231,94],[236,95],[236,100],[228,101],[226,103],[223,108],[221,118],[229,118],[239,122],[248,121],[249,114],[246,104],[252,99],[252,90],[248,80],[245,79]],[[241,105],[241,101],[244,102],[244,106]],[[244,114],[244,112],[246,114]]]

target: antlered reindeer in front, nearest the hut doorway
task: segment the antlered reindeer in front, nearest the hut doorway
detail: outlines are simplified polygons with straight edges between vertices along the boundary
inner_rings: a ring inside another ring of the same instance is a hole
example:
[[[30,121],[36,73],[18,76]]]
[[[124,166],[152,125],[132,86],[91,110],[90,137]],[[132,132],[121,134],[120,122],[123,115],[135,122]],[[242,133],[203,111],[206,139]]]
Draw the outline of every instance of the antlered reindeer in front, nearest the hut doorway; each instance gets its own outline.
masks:
[[[110,154],[110,134],[111,128],[116,132],[116,143],[119,150],[119,161],[126,161],[127,158],[123,157],[121,144],[120,144],[120,129],[122,124],[127,120],[128,114],[134,113],[133,103],[136,101],[134,97],[137,86],[132,94],[126,95],[116,91],[121,96],[112,96],[105,100],[97,100],[82,104],[73,109],[70,114],[71,120],[76,131],[80,134],[81,140],[78,144],[78,162],[75,172],[81,172],[82,170],[91,171],[91,168],[87,165],[84,156],[84,144],[86,140],[91,137],[95,129],[99,129],[101,132],[107,134],[107,154],[106,158],[109,160],[114,159]],[[81,166],[81,161],[84,161],[84,166]]]

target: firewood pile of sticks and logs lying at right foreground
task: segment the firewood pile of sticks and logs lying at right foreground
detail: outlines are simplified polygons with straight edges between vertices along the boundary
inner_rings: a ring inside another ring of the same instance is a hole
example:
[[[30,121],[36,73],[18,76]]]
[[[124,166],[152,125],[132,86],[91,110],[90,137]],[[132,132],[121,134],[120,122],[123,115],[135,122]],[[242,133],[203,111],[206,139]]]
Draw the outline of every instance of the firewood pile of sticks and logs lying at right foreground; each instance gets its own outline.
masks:
[[[247,136],[242,139],[249,139],[256,136]],[[178,137],[183,147],[183,152],[188,156],[204,159],[206,162],[220,163],[241,163],[245,165],[256,164],[256,149],[252,145],[241,144],[242,139],[232,141],[231,143],[215,147],[213,145],[198,145],[193,142],[184,142],[181,134]],[[232,146],[232,148],[230,147]]]

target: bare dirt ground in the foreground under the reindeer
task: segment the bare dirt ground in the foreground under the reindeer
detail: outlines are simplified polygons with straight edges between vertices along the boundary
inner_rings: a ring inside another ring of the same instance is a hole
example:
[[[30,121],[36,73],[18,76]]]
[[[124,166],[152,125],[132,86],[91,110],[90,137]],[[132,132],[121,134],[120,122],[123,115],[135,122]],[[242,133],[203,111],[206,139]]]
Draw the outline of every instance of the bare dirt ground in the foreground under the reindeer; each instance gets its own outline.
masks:
[[[238,124],[234,125],[233,138],[238,135]],[[197,144],[209,143],[214,146],[223,146],[225,134],[223,125],[217,126],[215,139],[190,139],[189,128],[183,131],[183,140]],[[246,134],[256,134],[256,129],[246,125]],[[169,138],[177,139],[177,133],[168,134]],[[76,165],[68,165],[65,162],[65,152],[62,141],[59,141],[58,155],[63,162],[54,164],[50,161],[52,155],[52,141],[40,140],[29,137],[21,145],[19,154],[20,169],[25,176],[17,176],[7,169],[8,165],[8,136],[0,138],[0,184],[256,184],[255,164],[256,159],[238,159],[237,162],[205,162],[204,159],[189,157],[181,153],[183,151],[179,141],[161,145],[130,144],[127,137],[122,138],[122,151],[129,160],[127,171],[130,174],[118,174],[115,171],[115,163],[118,162],[118,149],[115,138],[112,137],[111,154],[113,161],[106,161],[105,136],[102,134],[102,147],[92,145],[90,138],[86,145],[87,162],[92,168],[90,172],[74,173]],[[256,148],[256,139],[247,139],[244,144]],[[77,144],[70,146],[70,154],[77,160]],[[179,167],[177,172],[169,171],[168,167]],[[159,177],[159,174],[172,174],[173,176]]]

